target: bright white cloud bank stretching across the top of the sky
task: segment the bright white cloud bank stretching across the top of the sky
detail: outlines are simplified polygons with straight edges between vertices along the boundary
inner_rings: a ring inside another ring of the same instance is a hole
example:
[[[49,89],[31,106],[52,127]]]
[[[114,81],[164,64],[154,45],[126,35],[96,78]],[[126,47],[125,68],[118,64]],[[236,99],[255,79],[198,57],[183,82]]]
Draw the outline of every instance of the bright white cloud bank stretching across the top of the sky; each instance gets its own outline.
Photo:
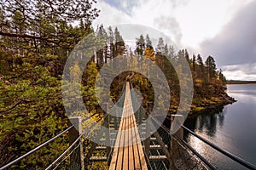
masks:
[[[152,26],[163,31],[173,40],[177,38],[177,35],[183,35],[180,41],[184,46],[198,48],[201,41],[214,37],[232,18],[237,9],[250,1],[123,0],[119,2],[119,9],[99,1],[98,8],[102,10],[102,13],[95,25],[135,23]],[[170,29],[170,26],[174,28]]]

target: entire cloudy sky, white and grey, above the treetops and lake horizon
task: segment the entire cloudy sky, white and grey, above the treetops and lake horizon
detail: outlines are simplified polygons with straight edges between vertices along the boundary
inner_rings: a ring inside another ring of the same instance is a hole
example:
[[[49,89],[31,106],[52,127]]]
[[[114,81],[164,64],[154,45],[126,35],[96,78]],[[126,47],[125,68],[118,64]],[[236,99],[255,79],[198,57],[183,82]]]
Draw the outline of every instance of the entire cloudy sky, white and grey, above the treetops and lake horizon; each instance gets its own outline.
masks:
[[[98,0],[96,7],[94,27],[150,26],[190,55],[212,55],[228,79],[256,80],[255,0]]]

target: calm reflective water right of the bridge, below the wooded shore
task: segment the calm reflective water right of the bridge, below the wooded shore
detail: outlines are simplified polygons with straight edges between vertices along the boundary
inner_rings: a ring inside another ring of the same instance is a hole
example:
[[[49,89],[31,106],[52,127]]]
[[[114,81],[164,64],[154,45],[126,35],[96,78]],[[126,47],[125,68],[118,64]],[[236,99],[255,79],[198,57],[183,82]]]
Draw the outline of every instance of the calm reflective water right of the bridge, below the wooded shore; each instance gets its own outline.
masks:
[[[224,106],[220,113],[191,116],[184,125],[256,165],[256,85],[229,85],[228,94],[237,102]],[[218,169],[247,169],[189,134],[184,133],[184,138]]]

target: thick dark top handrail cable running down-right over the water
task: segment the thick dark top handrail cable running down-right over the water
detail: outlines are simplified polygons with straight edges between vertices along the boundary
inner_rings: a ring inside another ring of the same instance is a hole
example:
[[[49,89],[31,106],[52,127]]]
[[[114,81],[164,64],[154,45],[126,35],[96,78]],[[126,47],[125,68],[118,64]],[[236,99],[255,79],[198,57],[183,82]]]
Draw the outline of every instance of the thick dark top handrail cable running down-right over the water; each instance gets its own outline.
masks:
[[[218,150],[220,153],[224,154],[224,156],[228,156],[231,160],[236,161],[238,163],[240,163],[242,166],[250,168],[250,169],[254,169],[256,170],[256,166],[249,163],[248,161],[245,161],[243,159],[241,159],[238,156],[235,156],[233,154],[231,154],[230,152],[228,152],[227,150],[223,150],[221,148],[219,148],[216,144],[212,144],[210,141],[208,141],[207,139],[202,138],[200,135],[194,133],[193,131],[191,131],[188,127],[185,127],[183,125],[181,125],[183,127],[183,129],[185,129],[186,131],[188,131],[190,134],[192,134],[193,136],[195,136],[198,139],[201,139],[201,141],[203,141],[204,143],[208,144],[209,146],[211,146],[213,149]]]

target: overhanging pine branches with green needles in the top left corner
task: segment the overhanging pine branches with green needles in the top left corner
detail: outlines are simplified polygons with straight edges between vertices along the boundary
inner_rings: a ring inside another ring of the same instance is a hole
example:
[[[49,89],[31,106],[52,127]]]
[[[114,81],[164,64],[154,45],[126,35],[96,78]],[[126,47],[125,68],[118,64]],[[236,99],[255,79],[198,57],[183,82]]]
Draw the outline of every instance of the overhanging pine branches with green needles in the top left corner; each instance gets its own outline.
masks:
[[[80,38],[70,31],[59,30],[58,28],[65,22],[72,23],[83,19],[85,27],[90,29],[91,21],[96,19],[99,13],[99,10],[92,8],[93,3],[95,2],[90,0],[1,1],[0,6],[10,29],[9,31],[0,30],[0,35],[19,37],[24,41],[27,39],[38,41],[33,45],[44,42],[44,45],[48,47],[73,48],[73,43],[79,42]],[[18,15],[18,20],[13,20]],[[17,24],[25,25],[26,31],[23,30],[25,27],[17,27]]]

